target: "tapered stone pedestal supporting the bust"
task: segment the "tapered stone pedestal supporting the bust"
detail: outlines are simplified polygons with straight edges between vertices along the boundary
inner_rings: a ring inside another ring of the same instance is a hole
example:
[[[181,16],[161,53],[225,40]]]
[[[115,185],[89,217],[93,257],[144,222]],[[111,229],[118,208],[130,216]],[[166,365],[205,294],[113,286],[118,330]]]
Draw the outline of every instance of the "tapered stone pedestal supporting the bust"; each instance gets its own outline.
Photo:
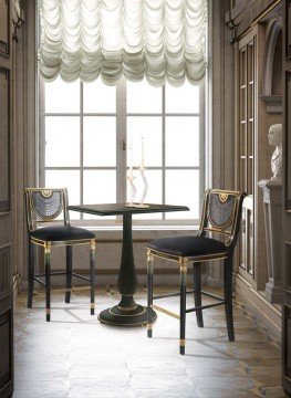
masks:
[[[269,282],[266,298],[270,303],[282,301],[282,181],[270,179],[259,181],[263,190],[263,211],[267,241]]]

